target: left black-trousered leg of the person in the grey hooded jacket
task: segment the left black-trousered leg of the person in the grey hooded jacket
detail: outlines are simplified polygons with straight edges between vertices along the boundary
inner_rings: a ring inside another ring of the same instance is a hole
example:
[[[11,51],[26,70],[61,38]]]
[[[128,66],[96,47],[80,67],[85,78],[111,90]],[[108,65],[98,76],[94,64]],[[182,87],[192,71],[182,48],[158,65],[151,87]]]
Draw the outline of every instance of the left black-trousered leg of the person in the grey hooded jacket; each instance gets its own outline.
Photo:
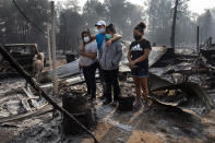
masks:
[[[106,84],[106,91],[105,91],[105,105],[111,103],[111,78],[110,78],[110,71],[104,70],[104,78],[105,78],[105,84]]]

